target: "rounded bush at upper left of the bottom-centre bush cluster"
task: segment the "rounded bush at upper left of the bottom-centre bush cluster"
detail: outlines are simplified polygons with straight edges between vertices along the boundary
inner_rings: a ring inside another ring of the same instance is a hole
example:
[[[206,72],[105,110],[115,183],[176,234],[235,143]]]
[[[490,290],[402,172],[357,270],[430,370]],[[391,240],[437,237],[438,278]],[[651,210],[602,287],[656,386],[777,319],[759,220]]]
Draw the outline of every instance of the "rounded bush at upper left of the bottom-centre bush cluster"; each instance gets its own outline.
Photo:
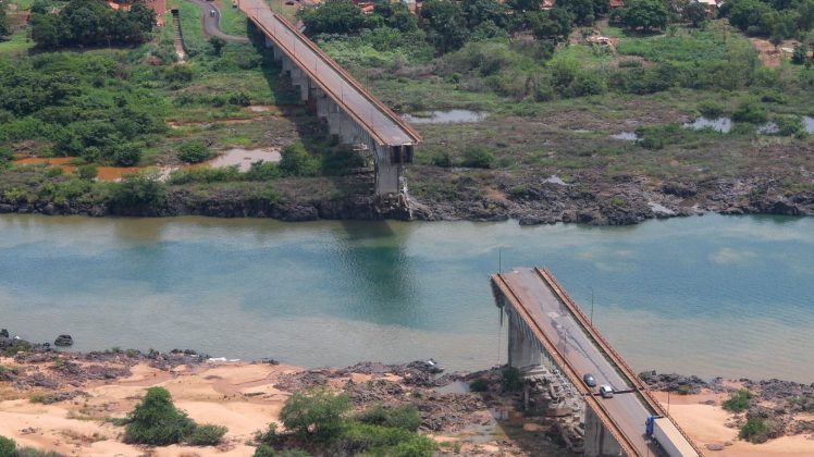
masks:
[[[324,391],[297,392],[285,400],[280,419],[286,429],[303,440],[330,442],[342,434],[344,416],[349,409],[347,395]]]

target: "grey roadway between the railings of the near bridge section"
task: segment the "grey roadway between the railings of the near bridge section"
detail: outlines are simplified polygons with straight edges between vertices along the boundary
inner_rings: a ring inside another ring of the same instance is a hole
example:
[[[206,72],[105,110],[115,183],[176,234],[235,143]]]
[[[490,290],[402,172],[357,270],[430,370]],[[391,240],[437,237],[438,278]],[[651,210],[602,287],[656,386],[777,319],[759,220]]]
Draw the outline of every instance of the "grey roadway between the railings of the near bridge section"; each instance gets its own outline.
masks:
[[[533,269],[515,269],[502,277],[577,373],[580,376],[593,374],[596,379],[594,392],[599,392],[602,384],[615,391],[631,388]],[[644,435],[650,411],[636,393],[616,394],[600,400],[640,455],[657,455]]]

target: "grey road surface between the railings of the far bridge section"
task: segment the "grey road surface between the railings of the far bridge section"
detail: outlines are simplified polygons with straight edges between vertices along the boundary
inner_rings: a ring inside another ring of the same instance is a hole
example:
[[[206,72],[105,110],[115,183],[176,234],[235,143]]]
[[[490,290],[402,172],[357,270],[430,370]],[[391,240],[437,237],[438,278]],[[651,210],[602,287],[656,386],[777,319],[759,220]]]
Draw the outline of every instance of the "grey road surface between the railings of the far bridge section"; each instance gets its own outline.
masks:
[[[193,0],[202,1],[202,0]],[[316,45],[306,41],[296,33],[293,33],[286,24],[278,16],[271,13],[269,5],[262,0],[240,0],[239,8],[247,16],[254,17],[261,28],[268,30],[283,48],[287,55],[294,55],[298,61],[297,66],[306,73],[317,75],[320,86],[329,92],[345,111],[358,116],[359,122],[372,132],[372,136],[380,138],[381,141],[390,146],[402,146],[416,144],[416,139],[410,136],[405,127],[399,125],[392,116],[387,114],[357,87],[354,87],[349,81],[350,76],[342,75],[334,66],[311,46]],[[293,59],[294,60],[294,59]],[[358,84],[358,83],[356,83]],[[400,119],[399,119],[400,121]]]

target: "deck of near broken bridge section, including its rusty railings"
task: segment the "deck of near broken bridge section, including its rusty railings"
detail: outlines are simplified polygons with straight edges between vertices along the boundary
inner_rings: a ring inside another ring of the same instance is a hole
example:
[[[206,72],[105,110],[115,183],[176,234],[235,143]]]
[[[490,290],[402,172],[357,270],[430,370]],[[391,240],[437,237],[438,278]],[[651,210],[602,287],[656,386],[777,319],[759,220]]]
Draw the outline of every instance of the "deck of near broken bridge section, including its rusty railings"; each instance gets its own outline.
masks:
[[[613,353],[615,357],[610,357],[607,349],[601,347],[607,344],[604,339],[604,344],[596,343],[596,337],[590,334],[595,330],[587,332],[583,329],[584,324],[579,322],[569,304],[554,291],[553,287],[558,285],[551,284],[544,273],[547,274],[536,269],[515,269],[495,275],[493,281],[498,280],[505,286],[514,298],[514,305],[522,308],[521,316],[529,316],[533,322],[528,323],[554,345],[556,358],[568,365],[568,370],[564,372],[570,374],[571,382],[577,384],[580,392],[585,392],[581,378],[587,373],[593,374],[597,386],[609,384],[616,391],[631,391],[617,393],[613,398],[594,396],[599,403],[589,402],[589,406],[594,410],[600,409],[596,410],[597,415],[609,419],[615,432],[626,441],[620,443],[622,447],[632,447],[631,450],[642,456],[657,455],[644,434],[644,423],[654,410],[658,413],[663,411],[654,408],[649,398],[639,395],[641,385],[638,379],[631,380],[629,368],[614,361],[618,355]],[[572,371],[569,373],[569,370]]]

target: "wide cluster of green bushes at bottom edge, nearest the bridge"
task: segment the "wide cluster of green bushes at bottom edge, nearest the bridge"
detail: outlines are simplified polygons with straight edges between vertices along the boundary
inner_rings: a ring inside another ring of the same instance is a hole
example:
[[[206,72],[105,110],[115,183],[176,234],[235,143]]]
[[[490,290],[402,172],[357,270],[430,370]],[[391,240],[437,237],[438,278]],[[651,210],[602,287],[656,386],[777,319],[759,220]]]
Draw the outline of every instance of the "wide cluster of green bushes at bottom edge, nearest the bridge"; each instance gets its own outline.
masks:
[[[351,416],[350,403],[344,394],[325,391],[295,393],[280,413],[292,435],[278,434],[275,427],[257,436],[260,445],[256,456],[275,454],[272,446],[284,445],[288,453],[300,447],[319,454],[370,456],[432,456],[435,443],[416,433],[421,418],[414,406],[385,408],[381,405]],[[287,440],[293,437],[294,441]]]

